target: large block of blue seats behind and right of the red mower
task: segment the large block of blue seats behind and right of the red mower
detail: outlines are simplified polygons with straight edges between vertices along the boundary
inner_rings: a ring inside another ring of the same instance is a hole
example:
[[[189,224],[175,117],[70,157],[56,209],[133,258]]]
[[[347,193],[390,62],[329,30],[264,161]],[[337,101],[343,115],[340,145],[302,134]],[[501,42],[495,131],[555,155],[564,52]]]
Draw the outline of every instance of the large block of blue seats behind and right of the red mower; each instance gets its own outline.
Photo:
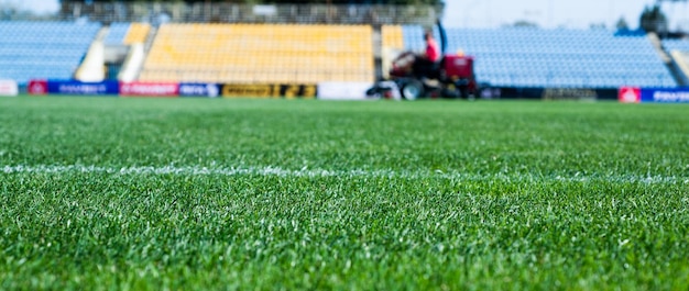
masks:
[[[423,48],[422,26],[403,32],[407,49]],[[447,52],[474,56],[478,78],[496,87],[677,86],[644,34],[503,27],[448,29],[447,37]]]

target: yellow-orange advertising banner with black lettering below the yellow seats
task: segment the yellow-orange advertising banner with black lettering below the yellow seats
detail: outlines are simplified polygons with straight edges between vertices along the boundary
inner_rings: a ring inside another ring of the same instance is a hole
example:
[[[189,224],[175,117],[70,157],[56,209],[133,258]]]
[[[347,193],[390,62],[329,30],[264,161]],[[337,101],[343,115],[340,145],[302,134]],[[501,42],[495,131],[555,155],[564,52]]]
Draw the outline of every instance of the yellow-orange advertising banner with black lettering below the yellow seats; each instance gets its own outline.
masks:
[[[223,98],[316,98],[316,85],[226,83]]]

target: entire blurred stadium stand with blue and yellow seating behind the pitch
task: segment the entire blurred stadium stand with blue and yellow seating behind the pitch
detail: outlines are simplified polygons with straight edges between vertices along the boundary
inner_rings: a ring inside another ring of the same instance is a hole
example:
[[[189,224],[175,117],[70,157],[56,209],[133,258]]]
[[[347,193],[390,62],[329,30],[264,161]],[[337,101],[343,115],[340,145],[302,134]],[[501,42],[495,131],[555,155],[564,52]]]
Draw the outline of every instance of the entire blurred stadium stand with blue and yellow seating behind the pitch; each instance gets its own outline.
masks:
[[[423,51],[423,30],[440,13],[423,5],[66,1],[50,21],[0,22],[0,79],[73,78],[89,45],[102,41],[107,79],[370,82],[384,77],[394,52]],[[479,81],[494,87],[689,83],[687,40],[516,27],[447,35],[446,53],[474,56]]]

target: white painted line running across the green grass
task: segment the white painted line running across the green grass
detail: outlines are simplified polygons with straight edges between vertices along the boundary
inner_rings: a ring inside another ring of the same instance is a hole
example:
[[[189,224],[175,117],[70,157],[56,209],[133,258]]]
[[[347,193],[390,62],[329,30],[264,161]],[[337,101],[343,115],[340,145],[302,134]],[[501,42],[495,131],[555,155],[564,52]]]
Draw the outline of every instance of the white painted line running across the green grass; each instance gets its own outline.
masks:
[[[441,178],[467,181],[514,181],[514,182],[537,182],[537,181],[564,181],[564,182],[639,182],[639,183],[685,183],[689,184],[687,177],[666,177],[666,176],[633,176],[633,175],[591,175],[582,176],[576,174],[572,177],[567,176],[539,176],[525,174],[466,174],[459,171],[444,172],[439,170],[327,170],[327,169],[307,169],[298,170],[284,169],[275,166],[265,167],[198,167],[198,166],[131,166],[131,167],[103,167],[103,166],[84,166],[84,165],[15,165],[0,166],[2,174],[111,174],[111,175],[184,175],[184,176],[275,176],[275,177],[343,177],[343,178]]]

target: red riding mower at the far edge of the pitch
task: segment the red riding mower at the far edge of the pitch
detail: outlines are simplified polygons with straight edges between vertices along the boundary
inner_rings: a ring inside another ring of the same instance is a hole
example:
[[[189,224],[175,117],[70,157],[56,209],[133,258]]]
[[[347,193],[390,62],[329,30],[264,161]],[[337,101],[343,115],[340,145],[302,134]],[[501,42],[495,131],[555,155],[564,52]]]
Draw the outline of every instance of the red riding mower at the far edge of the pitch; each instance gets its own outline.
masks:
[[[447,36],[438,21],[440,31],[440,60],[431,68],[415,71],[415,54],[404,53],[393,60],[390,80],[381,81],[369,89],[369,96],[394,96],[391,90],[398,88],[400,96],[406,100],[418,98],[475,98],[478,85],[473,72],[473,57],[445,54]],[[397,88],[392,88],[391,81]]]

